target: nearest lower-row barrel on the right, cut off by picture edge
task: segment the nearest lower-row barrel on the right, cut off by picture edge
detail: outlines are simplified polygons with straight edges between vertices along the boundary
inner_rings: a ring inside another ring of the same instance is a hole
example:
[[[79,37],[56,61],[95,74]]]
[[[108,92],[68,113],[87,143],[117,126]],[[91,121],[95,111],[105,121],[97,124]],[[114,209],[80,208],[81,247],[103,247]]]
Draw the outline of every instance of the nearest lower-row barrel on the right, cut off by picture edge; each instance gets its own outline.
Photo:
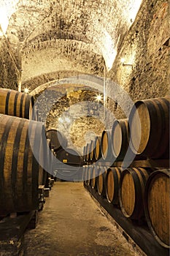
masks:
[[[169,248],[170,172],[156,170],[147,180],[144,212],[152,235],[161,246]]]

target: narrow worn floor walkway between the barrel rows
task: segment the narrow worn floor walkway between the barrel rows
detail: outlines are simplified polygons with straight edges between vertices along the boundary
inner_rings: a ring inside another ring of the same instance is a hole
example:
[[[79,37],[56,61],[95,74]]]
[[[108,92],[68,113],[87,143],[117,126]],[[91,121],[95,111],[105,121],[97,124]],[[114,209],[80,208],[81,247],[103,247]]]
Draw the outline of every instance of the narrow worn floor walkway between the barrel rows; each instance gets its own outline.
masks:
[[[24,237],[26,256],[132,256],[121,235],[82,183],[55,182],[35,230]]]

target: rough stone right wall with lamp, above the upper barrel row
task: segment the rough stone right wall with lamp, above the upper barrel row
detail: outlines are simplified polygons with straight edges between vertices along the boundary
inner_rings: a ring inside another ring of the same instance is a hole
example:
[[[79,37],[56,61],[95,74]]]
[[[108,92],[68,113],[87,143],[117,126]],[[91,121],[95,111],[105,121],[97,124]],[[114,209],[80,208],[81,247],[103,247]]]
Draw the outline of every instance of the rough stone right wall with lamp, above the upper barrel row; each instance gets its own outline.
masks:
[[[144,1],[107,73],[107,78],[121,86],[133,101],[169,93],[169,10],[169,1]],[[133,66],[123,66],[121,58],[124,64]],[[113,94],[114,86],[108,84],[107,95]],[[108,102],[108,108],[115,111],[117,118],[125,117],[120,105]]]

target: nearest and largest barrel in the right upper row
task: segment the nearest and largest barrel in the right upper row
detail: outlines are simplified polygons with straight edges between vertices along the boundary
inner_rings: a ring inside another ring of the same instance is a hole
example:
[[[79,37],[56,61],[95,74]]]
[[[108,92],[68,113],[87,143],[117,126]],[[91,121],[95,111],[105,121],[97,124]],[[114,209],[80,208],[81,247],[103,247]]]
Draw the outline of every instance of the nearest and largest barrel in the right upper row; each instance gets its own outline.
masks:
[[[169,98],[137,101],[129,116],[131,149],[135,154],[169,158]]]

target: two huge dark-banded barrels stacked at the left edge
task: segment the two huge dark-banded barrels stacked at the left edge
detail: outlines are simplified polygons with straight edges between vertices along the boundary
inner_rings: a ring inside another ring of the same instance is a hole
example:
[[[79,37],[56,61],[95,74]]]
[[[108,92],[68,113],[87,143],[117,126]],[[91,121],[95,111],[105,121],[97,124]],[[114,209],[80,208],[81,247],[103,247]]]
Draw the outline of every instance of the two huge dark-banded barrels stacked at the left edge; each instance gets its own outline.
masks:
[[[33,108],[30,95],[0,89],[0,216],[39,208],[46,138],[44,125],[31,120]]]

